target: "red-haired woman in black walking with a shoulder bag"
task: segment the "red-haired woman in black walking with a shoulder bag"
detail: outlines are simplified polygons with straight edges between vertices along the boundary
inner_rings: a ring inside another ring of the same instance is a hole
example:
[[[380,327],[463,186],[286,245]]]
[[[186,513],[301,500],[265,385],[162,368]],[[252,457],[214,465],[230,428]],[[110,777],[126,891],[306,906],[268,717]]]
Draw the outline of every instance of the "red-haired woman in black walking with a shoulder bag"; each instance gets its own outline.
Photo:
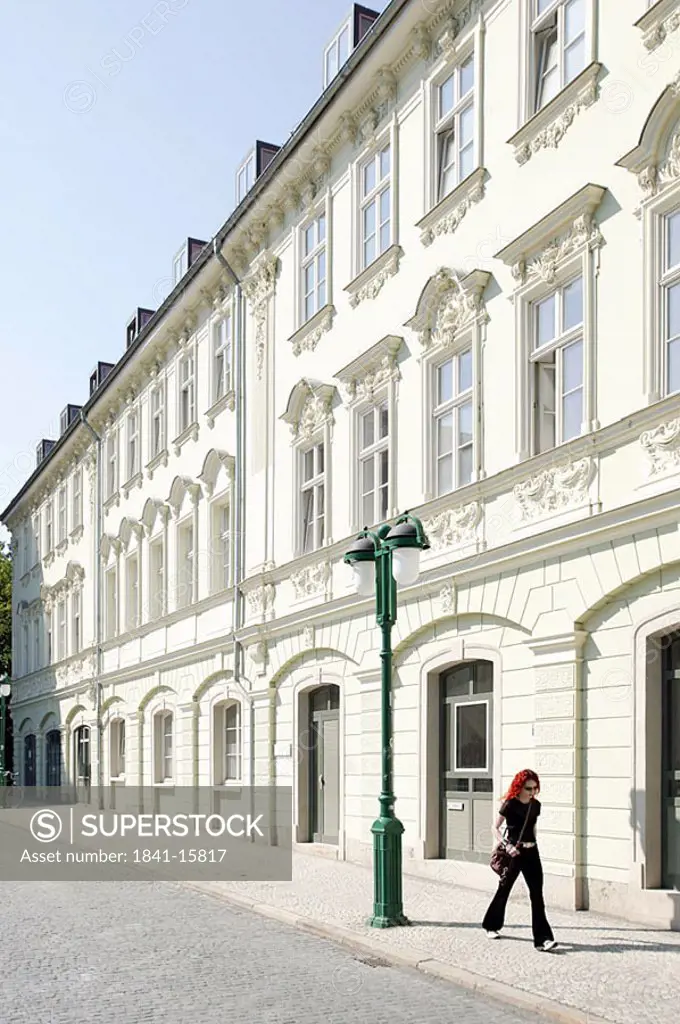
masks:
[[[546,905],[543,899],[543,865],[536,842],[536,821],[541,813],[538,795],[541,782],[536,772],[525,768],[517,772],[501,804],[496,819],[495,833],[499,843],[505,846],[510,854],[510,861],[505,873],[501,877],[494,899],[484,914],[481,927],[490,939],[499,939],[505,923],[505,908],[512,887],[518,874],[524,876],[524,882],[532,900],[532,931],[534,945],[537,949],[548,951],[557,946],[552,929],[546,918]],[[501,834],[505,822],[506,835]]]

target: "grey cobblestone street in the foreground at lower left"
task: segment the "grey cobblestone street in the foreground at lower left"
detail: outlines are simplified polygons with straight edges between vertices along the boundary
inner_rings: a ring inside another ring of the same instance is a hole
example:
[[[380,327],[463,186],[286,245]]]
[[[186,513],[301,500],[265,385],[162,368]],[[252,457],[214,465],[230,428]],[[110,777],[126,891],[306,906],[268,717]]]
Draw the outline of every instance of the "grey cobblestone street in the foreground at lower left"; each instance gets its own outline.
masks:
[[[175,884],[5,883],[2,905],[2,1024],[538,1022]]]

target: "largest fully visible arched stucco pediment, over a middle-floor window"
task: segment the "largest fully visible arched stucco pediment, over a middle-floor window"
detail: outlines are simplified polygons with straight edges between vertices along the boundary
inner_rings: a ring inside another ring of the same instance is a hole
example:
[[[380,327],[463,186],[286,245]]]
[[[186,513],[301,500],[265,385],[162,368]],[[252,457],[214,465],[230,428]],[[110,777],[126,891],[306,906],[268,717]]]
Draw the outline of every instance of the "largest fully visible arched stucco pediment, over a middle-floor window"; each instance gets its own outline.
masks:
[[[475,322],[488,322],[482,296],[490,280],[487,270],[472,270],[461,279],[450,267],[439,267],[405,327],[416,332],[424,349],[450,348],[462,330]]]

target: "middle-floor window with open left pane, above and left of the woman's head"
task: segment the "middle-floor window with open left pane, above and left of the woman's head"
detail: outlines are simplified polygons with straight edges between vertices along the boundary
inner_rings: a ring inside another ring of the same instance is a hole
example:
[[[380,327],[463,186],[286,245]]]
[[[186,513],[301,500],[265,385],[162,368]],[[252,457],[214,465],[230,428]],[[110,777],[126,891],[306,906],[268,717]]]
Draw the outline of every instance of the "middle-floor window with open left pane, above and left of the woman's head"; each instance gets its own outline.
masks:
[[[584,420],[583,278],[532,306],[534,455],[579,436]]]

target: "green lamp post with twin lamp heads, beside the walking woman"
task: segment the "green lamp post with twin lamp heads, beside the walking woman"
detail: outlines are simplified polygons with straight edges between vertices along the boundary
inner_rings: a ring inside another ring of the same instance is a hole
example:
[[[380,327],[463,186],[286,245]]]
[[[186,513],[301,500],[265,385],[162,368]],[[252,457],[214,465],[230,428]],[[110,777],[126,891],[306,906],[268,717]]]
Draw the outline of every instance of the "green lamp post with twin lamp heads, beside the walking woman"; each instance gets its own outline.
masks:
[[[375,588],[376,617],[382,631],[381,732],[382,788],[380,816],[374,821],[374,905],[372,928],[410,925],[401,898],[401,835],[403,825],[394,815],[392,792],[392,627],[396,622],[397,584],[409,586],[420,573],[420,553],[429,548],[423,524],[406,512],[393,526],[376,532],[364,528],[344,561],[354,571],[356,593],[369,597]]]

